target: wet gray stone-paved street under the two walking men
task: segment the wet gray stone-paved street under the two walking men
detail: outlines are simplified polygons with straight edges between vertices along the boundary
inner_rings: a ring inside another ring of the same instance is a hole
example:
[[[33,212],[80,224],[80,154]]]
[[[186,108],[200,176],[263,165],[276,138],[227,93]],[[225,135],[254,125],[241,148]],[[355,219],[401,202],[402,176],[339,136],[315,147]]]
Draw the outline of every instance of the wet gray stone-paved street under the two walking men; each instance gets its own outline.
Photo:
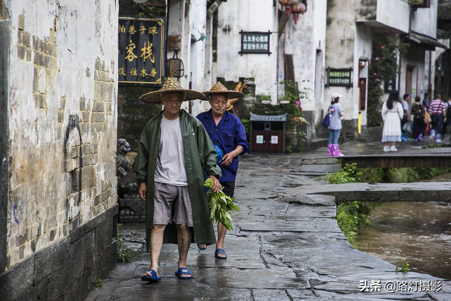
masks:
[[[380,144],[371,144],[366,149],[376,152],[379,148]],[[342,147],[343,153],[362,150],[357,143]],[[438,293],[389,294],[383,286],[381,292],[359,292],[360,280],[382,280],[383,284],[441,279],[396,273],[394,265],[355,250],[331,219],[336,215],[333,196],[293,194],[295,189],[308,193],[309,186],[317,192],[319,185],[326,185],[315,178],[336,168],[335,164],[310,170],[299,167],[301,158],[326,152],[321,148],[310,154],[240,158],[235,202],[241,212],[234,218],[235,232],[226,236],[228,259],[215,259],[214,245],[199,251],[193,244],[188,255],[191,280],[174,277],[177,246],[164,245],[159,263],[161,282],[141,282],[140,275],[150,265],[143,245],[144,225],[124,225],[124,247],[135,249],[136,258],[118,264],[103,281],[104,286],[91,292],[87,300],[451,300],[449,281],[442,282]],[[281,197],[285,190],[291,191],[291,198]]]

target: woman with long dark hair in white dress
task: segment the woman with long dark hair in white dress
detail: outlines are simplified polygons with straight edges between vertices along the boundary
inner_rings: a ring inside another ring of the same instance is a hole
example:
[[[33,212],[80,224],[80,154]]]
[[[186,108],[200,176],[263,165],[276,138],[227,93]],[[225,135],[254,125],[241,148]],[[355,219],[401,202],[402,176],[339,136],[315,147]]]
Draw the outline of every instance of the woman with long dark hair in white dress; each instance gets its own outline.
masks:
[[[401,141],[401,119],[404,115],[402,104],[399,101],[398,91],[392,90],[387,101],[382,105],[382,119],[384,129],[382,130],[382,142],[384,152],[397,152],[395,144]],[[391,147],[388,146],[391,142]]]

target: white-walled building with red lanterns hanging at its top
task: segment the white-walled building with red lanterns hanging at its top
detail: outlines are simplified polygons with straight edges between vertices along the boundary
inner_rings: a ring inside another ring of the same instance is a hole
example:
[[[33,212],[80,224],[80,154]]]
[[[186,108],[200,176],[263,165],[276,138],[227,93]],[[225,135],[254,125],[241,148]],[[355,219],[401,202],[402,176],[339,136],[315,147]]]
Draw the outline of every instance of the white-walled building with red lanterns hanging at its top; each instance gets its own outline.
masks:
[[[254,78],[255,94],[271,97],[278,104],[283,96],[279,82],[291,79],[307,90],[308,99],[301,101],[305,118],[314,124],[321,119],[324,60],[326,45],[326,0],[301,1],[307,10],[284,22],[278,1],[232,0],[218,9],[217,76],[226,81]],[[269,34],[269,54],[244,53],[244,32]],[[289,72],[286,72],[289,69]]]

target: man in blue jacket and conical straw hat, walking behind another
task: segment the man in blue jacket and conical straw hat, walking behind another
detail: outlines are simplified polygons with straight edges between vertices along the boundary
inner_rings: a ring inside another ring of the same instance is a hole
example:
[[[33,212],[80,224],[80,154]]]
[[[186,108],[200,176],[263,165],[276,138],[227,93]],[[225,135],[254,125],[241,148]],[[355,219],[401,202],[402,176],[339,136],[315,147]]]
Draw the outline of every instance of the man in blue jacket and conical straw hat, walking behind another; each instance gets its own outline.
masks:
[[[204,92],[204,94],[206,98],[203,100],[210,102],[212,108],[196,117],[202,122],[213,144],[219,147],[224,154],[221,164],[219,164],[222,171],[219,182],[224,186],[222,191],[233,197],[236,172],[238,171],[238,156],[248,152],[249,143],[239,118],[227,112],[227,101],[241,97],[243,93],[227,90],[224,85],[217,82],[210,91]],[[218,259],[227,259],[226,251],[223,249],[226,232],[226,227],[218,222],[218,241],[215,251],[215,257]],[[198,244],[198,248],[205,250],[207,245]]]

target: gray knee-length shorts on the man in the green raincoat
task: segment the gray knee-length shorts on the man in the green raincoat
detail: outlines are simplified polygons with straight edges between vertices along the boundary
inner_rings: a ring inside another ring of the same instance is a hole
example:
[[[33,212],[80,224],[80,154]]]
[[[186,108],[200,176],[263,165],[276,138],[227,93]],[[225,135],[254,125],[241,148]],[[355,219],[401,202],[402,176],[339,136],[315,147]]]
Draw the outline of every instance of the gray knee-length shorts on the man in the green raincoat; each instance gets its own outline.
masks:
[[[188,186],[155,182],[153,223],[167,225],[175,222],[193,227],[193,212]],[[171,218],[172,216],[172,218]]]

